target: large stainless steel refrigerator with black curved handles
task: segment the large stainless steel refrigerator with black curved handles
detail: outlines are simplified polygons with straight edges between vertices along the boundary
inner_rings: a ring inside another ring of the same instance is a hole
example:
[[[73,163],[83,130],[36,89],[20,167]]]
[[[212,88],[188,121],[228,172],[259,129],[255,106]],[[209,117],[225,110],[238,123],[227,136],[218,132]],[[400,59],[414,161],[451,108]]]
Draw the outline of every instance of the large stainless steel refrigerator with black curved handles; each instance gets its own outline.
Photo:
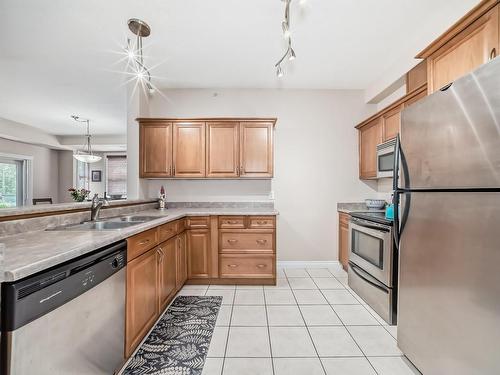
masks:
[[[398,345],[425,375],[500,374],[500,58],[405,109],[397,147]]]

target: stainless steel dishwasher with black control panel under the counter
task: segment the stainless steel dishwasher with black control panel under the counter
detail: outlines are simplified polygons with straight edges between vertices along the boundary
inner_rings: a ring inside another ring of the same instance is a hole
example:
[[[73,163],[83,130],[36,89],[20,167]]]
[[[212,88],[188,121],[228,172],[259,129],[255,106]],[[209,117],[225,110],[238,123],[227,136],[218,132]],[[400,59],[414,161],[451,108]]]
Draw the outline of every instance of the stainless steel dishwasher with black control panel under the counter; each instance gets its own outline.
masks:
[[[2,284],[1,374],[113,374],[124,360],[126,249]]]

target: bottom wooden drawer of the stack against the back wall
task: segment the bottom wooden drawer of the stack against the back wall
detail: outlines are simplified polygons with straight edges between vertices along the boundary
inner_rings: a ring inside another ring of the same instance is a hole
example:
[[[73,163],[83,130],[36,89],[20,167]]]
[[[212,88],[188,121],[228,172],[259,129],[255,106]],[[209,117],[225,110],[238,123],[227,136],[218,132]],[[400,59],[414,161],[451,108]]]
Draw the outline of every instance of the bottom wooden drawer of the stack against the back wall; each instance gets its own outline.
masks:
[[[273,255],[221,255],[221,278],[271,278],[274,277]]]

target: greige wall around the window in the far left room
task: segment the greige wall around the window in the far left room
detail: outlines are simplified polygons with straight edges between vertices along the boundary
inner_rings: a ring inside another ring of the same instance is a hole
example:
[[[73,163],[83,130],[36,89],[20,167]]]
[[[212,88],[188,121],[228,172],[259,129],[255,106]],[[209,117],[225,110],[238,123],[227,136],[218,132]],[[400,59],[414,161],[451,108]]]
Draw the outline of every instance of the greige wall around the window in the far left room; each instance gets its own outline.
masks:
[[[58,151],[0,138],[0,153],[32,156],[33,198],[52,198],[54,203],[59,202]]]

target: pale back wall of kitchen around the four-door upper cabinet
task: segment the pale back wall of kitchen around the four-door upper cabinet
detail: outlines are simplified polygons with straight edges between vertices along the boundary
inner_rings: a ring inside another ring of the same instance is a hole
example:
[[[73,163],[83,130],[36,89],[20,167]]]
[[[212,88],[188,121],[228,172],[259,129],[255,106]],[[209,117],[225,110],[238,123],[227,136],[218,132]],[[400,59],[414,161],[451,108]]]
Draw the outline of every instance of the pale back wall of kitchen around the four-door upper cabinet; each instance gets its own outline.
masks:
[[[214,95],[217,92],[217,95]],[[167,186],[171,201],[251,200],[271,190],[280,211],[280,260],[336,260],[337,202],[378,196],[376,182],[358,179],[354,125],[373,113],[362,91],[335,90],[165,90],[149,100],[150,117],[277,117],[275,178],[256,181],[148,180],[156,197]],[[131,124],[129,124],[129,127]],[[134,133],[135,133],[135,129]],[[137,142],[129,137],[129,142]],[[128,145],[130,151],[137,145]],[[135,174],[134,176],[137,176]],[[133,179],[133,175],[129,178]],[[135,182],[131,182],[136,185]]]

